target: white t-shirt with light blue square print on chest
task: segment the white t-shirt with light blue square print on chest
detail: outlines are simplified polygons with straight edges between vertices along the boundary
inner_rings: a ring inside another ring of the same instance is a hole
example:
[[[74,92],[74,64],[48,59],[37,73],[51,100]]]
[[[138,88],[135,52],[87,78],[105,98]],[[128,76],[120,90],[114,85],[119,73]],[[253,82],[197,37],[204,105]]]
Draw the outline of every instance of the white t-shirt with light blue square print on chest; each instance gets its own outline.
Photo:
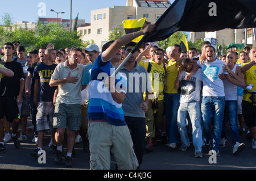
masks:
[[[207,60],[200,64],[197,61],[197,65],[203,71],[203,96],[225,96],[224,85],[218,75],[224,73],[222,66],[226,65],[221,60],[215,60],[213,62],[207,62]]]

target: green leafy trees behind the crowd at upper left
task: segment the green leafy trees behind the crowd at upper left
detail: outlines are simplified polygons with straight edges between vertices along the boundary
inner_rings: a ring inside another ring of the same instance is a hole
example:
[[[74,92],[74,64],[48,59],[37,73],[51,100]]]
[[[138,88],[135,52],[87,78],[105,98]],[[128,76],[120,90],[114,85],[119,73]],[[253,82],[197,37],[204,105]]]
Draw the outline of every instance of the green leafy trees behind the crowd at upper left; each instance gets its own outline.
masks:
[[[7,41],[18,40],[26,48],[26,52],[40,47],[47,47],[49,43],[59,48],[84,48],[86,43],[81,40],[81,35],[76,31],[65,29],[59,22],[51,22],[46,25],[38,22],[35,31],[20,29],[18,27],[0,27],[0,45]]]

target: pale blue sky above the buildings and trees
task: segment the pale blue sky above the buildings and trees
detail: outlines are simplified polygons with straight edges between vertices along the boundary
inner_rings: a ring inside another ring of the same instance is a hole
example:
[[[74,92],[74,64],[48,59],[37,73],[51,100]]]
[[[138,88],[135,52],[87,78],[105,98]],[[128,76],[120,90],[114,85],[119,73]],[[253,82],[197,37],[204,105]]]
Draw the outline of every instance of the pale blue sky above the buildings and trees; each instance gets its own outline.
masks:
[[[58,18],[70,19],[70,2],[70,0],[1,1],[0,23],[3,24],[2,17],[5,13],[12,16],[13,23],[22,20],[36,23],[40,14],[40,18],[57,18],[56,12],[63,11],[65,14],[59,14]],[[86,23],[90,23],[90,11],[113,6],[126,6],[126,0],[72,0],[72,19],[75,19],[79,13],[79,19],[85,19]],[[56,12],[50,11],[51,9]]]

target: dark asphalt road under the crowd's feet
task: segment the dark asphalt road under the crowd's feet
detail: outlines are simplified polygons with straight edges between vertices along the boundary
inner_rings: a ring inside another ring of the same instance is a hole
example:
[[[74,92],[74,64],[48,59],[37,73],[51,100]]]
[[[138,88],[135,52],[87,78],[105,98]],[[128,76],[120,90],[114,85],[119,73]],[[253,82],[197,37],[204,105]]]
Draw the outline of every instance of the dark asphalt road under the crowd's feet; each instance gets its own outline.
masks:
[[[28,121],[28,126],[31,123]],[[230,133],[228,132],[230,136]],[[16,149],[12,141],[6,143],[6,151],[0,154],[0,169],[10,170],[89,170],[90,153],[82,150],[82,142],[75,145],[75,155],[73,155],[73,166],[65,167],[64,159],[59,165],[55,163],[55,154],[51,153],[48,143],[51,139],[46,131],[43,141],[43,149],[46,151],[46,163],[39,163],[38,157],[31,157],[30,153],[36,148],[31,142],[33,134],[28,133],[28,140],[21,142],[20,148]],[[232,154],[232,140],[229,137],[225,148],[220,150],[221,157],[217,157],[215,163],[210,163],[208,149],[203,149],[203,158],[194,157],[193,144],[186,151],[179,151],[181,143],[177,144],[177,149],[171,150],[160,141],[154,146],[154,151],[144,154],[141,170],[255,170],[256,150],[251,149],[251,140],[241,137],[241,141],[246,147],[238,155]],[[112,158],[111,170],[115,170],[114,158]],[[168,174],[168,172],[165,172]],[[185,175],[184,175],[185,176]]]

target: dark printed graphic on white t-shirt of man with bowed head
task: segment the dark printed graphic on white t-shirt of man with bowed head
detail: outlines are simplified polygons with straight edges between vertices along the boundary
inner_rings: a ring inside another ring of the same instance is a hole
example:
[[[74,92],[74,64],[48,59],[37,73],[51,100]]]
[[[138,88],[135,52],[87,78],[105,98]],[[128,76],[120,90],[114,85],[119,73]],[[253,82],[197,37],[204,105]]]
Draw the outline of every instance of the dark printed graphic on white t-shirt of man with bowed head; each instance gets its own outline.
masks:
[[[181,77],[181,95],[190,95],[196,90],[196,77],[185,80],[185,76]]]

